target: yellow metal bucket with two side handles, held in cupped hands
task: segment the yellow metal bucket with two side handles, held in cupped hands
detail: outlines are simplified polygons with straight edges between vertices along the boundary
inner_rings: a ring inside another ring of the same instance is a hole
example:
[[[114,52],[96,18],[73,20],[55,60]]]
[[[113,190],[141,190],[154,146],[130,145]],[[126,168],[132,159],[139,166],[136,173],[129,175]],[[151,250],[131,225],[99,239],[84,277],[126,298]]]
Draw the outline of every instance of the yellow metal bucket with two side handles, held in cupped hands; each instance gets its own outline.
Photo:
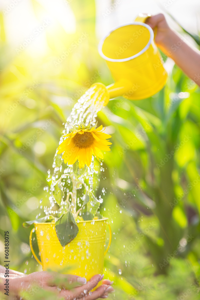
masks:
[[[102,274],[104,255],[111,244],[111,228],[108,219],[80,221],[79,232],[69,244],[62,247],[55,231],[55,223],[34,223],[30,233],[30,247],[34,258],[43,271],[52,270],[73,274],[90,280],[95,274]],[[105,250],[106,225],[109,227],[109,243]],[[35,230],[40,260],[32,247],[32,233]]]

